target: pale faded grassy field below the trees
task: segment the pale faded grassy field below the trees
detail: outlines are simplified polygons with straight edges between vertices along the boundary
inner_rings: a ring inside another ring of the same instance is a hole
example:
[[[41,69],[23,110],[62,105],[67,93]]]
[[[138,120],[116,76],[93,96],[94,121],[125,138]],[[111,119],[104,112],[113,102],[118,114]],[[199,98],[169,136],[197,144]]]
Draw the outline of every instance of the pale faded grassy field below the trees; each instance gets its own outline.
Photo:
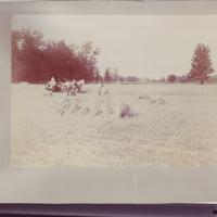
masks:
[[[14,167],[217,165],[216,85],[12,85]],[[120,118],[123,104],[133,113]]]

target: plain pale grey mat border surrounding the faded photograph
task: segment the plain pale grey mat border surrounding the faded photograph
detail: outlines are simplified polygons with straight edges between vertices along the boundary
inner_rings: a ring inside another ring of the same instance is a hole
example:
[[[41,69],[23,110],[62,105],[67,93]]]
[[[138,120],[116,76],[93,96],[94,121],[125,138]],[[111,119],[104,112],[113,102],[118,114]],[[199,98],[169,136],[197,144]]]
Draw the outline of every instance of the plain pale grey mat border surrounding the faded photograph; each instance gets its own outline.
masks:
[[[13,14],[217,14],[217,1],[0,2],[0,203],[217,202],[217,168],[10,168]]]

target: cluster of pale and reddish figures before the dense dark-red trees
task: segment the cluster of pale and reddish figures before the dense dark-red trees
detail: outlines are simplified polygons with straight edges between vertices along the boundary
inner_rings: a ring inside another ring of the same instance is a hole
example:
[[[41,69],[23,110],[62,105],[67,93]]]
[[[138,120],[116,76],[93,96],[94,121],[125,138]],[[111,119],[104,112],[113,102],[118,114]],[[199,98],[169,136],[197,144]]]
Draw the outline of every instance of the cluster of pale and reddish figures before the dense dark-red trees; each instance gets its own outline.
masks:
[[[46,89],[52,92],[65,92],[67,95],[76,95],[77,92],[80,92],[85,85],[85,80],[65,80],[56,81],[54,77],[47,84]]]

